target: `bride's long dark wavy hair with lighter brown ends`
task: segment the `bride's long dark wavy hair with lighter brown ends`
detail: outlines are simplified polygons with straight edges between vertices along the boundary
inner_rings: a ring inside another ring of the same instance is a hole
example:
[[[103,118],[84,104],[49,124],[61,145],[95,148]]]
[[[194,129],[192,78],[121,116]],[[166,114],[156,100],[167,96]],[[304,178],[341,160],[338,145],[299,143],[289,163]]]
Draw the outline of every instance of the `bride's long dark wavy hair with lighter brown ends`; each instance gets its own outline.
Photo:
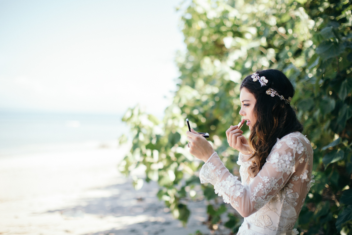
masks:
[[[290,80],[276,69],[267,69],[256,73],[259,77],[264,76],[268,80],[265,86],[261,86],[259,81],[254,82],[251,75],[247,76],[240,86],[240,90],[245,87],[257,100],[253,108],[256,122],[249,136],[249,145],[254,151],[249,159],[251,165],[248,172],[251,177],[255,177],[262,169],[277,138],[280,139],[295,131],[303,131],[303,126],[297,119],[293,107],[286,104],[285,100],[281,100],[277,95],[271,97],[266,94],[266,91],[272,88],[279,95],[283,95],[285,99],[292,98],[295,89]]]

